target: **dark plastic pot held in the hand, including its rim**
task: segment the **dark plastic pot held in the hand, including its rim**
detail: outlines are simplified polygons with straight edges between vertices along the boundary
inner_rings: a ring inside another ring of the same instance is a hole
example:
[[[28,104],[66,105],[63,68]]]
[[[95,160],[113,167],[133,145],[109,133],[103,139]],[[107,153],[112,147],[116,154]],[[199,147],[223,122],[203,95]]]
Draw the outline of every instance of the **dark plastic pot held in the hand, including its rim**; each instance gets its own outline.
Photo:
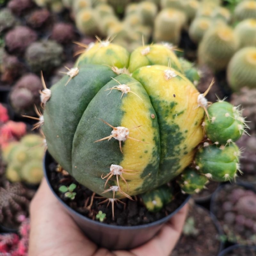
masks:
[[[47,183],[65,210],[72,216],[79,228],[84,232],[85,236],[92,240],[95,244],[101,247],[112,250],[132,249],[148,242],[163,225],[170,220],[189,200],[188,195],[184,202],[171,214],[161,220],[149,224],[138,226],[115,226],[91,220],[84,215],[76,212],[65,204],[53,190],[49,181],[48,166],[52,162],[52,157],[46,152],[44,156],[44,175]]]

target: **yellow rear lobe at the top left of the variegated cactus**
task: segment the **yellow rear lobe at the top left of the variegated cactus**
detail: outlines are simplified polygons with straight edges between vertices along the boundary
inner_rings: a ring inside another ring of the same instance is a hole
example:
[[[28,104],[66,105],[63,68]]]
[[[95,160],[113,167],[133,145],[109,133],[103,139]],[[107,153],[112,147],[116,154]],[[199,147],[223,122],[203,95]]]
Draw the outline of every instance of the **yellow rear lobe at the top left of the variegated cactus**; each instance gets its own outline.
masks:
[[[129,64],[129,52],[122,46],[109,42],[99,42],[93,44],[78,59],[78,65],[86,63],[104,64],[109,67],[125,68]]]

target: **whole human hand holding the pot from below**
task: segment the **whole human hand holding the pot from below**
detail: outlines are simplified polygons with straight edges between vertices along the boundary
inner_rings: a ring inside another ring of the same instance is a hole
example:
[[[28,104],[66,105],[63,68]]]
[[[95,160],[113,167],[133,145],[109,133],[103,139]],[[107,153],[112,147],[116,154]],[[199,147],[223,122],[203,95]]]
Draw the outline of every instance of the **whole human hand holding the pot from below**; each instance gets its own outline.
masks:
[[[84,236],[43,179],[30,204],[28,256],[167,256],[180,237],[187,210],[186,204],[146,244],[109,251]]]

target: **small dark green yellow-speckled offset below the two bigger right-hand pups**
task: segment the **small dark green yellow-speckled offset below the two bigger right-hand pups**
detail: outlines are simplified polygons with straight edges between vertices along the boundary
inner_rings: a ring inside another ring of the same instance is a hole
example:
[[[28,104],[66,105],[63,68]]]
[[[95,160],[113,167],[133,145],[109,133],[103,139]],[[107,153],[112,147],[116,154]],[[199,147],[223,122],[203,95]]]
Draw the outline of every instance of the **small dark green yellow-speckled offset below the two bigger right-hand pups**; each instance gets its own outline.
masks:
[[[207,182],[209,182],[209,180],[205,175],[192,168],[186,168],[178,180],[180,188],[188,194],[200,192]]]

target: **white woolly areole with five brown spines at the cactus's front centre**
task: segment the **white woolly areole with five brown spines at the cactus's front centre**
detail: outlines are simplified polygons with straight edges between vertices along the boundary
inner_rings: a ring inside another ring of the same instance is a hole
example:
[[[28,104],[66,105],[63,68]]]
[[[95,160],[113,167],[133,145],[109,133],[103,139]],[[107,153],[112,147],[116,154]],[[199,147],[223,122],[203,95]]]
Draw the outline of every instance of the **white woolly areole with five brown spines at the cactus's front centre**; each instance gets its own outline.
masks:
[[[126,127],[123,127],[123,126],[117,126],[117,127],[114,127],[112,126],[111,124],[108,124],[106,121],[100,119],[103,123],[107,124],[108,126],[110,126],[113,131],[111,132],[111,134],[107,137],[104,137],[100,140],[96,140],[94,142],[99,142],[99,141],[102,141],[102,140],[110,140],[111,138],[114,138],[116,140],[119,140],[119,148],[120,148],[120,151],[121,153],[123,153],[123,150],[122,150],[122,141],[124,142],[125,140],[127,139],[132,139],[132,140],[136,140],[138,142],[143,142],[143,143],[147,143],[147,142],[144,142],[144,141],[141,141],[141,140],[137,140],[137,139],[134,139],[132,137],[129,136],[129,129],[126,128]],[[134,127],[132,129],[135,129],[135,128],[139,128],[141,125],[137,126],[137,127]],[[132,130],[130,129],[130,130]]]

